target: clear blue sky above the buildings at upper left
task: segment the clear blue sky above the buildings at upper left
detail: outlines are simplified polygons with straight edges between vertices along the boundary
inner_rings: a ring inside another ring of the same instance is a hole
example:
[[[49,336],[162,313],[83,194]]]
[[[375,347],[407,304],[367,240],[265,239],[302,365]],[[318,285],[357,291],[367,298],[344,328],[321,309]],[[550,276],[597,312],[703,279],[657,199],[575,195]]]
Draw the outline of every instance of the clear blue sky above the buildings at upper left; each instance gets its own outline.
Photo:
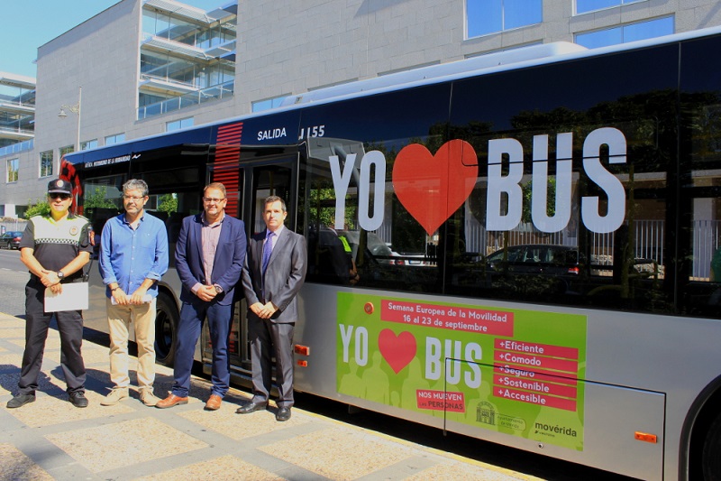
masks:
[[[38,47],[85,22],[119,0],[9,0],[3,2],[0,27],[0,71],[35,77]],[[185,0],[204,10],[229,0]]]

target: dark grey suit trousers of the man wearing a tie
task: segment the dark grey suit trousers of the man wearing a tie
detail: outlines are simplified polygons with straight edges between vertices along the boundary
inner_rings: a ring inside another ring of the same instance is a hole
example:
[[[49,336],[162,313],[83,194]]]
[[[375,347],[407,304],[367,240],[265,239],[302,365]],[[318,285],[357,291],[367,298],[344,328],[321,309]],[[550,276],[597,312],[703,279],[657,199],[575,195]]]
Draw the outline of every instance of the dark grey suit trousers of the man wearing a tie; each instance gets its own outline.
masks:
[[[251,338],[253,402],[268,402],[272,357],[276,358],[276,384],[279,408],[293,405],[293,332],[294,322],[276,323],[260,319],[249,311],[248,334]]]

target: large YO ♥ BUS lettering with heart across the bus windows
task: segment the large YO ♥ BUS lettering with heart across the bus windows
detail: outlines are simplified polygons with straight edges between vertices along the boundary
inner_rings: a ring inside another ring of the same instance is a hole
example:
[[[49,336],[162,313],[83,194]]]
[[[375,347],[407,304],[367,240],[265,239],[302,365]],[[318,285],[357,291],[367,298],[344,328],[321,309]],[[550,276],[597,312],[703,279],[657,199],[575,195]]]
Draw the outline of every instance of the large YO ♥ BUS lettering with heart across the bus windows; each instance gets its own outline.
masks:
[[[583,140],[582,167],[586,177],[603,196],[580,199],[580,219],[591,232],[607,234],[624,223],[625,190],[620,180],[601,161],[607,149],[607,163],[626,162],[624,134],[613,127],[591,131]],[[572,193],[573,133],[556,134],[555,199],[548,196],[549,135],[534,135],[531,218],[541,232],[561,232],[570,222]],[[357,154],[350,153],[344,165],[337,155],[329,156],[335,190],[335,228],[345,224],[345,199],[351,179],[358,183],[361,228],[374,231],[386,212],[386,157],[379,151],[365,153],[356,165]],[[503,164],[507,174],[503,174]],[[433,235],[470,196],[478,182],[478,156],[470,143],[452,140],[436,153],[424,145],[411,143],[397,154],[393,166],[393,189],[406,210]],[[511,230],[521,222],[523,212],[524,148],[514,138],[488,141],[488,189],[486,229]],[[603,199],[605,198],[605,199]],[[607,201],[605,208],[603,200]],[[547,205],[555,206],[552,216]]]

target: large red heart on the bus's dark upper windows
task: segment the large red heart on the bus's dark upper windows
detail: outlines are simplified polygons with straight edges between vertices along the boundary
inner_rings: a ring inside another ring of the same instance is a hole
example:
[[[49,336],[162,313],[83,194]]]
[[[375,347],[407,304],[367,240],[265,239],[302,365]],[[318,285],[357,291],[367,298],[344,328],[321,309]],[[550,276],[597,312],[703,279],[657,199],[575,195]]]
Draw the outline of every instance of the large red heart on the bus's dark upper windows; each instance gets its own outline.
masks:
[[[429,236],[468,199],[478,178],[478,156],[470,143],[452,140],[432,155],[411,143],[398,153],[393,188],[398,200]]]

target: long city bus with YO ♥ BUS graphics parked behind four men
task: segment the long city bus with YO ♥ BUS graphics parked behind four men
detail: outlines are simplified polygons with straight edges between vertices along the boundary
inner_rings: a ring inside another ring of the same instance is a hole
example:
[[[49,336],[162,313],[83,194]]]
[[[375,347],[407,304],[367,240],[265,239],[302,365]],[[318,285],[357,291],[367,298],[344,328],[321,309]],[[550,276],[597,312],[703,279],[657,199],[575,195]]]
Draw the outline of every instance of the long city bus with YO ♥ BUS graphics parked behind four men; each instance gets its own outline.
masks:
[[[170,252],[210,181],[248,235],[286,199],[308,245],[298,392],[625,476],[719,479],[721,29],[529,49],[69,153],[61,175],[95,236],[146,180]],[[90,279],[87,327],[106,330]],[[168,365],[178,289],[171,266]]]

